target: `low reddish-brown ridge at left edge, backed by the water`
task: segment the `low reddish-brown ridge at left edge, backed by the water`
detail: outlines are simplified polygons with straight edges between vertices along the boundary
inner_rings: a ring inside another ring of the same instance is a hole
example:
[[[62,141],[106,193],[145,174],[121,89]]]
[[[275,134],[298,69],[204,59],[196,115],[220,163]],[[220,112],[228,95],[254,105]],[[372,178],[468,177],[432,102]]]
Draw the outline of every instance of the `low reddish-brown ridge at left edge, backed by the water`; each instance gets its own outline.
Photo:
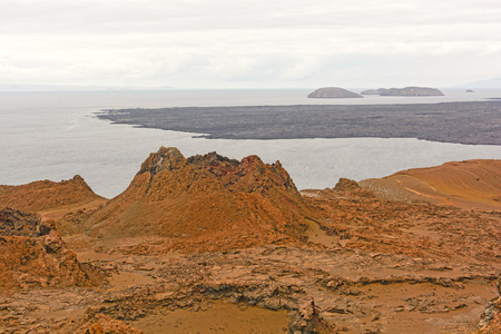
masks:
[[[79,175],[60,183],[39,180],[20,186],[0,185],[0,207],[8,206],[29,213],[104,199]]]

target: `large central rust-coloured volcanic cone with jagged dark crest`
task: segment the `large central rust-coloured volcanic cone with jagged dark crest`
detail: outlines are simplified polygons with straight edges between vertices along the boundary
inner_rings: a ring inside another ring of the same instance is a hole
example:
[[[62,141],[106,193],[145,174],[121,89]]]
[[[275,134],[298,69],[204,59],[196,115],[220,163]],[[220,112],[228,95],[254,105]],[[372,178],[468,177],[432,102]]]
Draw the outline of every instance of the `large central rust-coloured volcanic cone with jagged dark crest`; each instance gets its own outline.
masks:
[[[90,217],[89,227],[104,239],[159,236],[195,252],[298,242],[310,215],[278,161],[216,153],[187,159],[161,147],[122,194]]]

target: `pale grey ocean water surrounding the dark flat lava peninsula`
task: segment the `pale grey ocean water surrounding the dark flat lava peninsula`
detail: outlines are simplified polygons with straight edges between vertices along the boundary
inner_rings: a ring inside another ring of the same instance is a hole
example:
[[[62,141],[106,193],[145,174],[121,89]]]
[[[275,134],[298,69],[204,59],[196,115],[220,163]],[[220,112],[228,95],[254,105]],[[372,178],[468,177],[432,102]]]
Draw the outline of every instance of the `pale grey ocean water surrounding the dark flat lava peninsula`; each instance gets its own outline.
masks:
[[[472,101],[501,97],[501,90],[442,90],[443,97],[308,99],[307,89],[0,92],[0,184],[60,181],[79,174],[99,195],[111,198],[131,181],[140,164],[160,146],[186,156],[217,151],[242,159],[279,160],[296,186],[333,187],[340,177],[362,180],[451,160],[501,159],[493,145],[444,144],[414,138],[228,140],[200,134],[111,125],[96,112],[115,108],[385,105]],[[500,134],[501,136],[501,134]]]

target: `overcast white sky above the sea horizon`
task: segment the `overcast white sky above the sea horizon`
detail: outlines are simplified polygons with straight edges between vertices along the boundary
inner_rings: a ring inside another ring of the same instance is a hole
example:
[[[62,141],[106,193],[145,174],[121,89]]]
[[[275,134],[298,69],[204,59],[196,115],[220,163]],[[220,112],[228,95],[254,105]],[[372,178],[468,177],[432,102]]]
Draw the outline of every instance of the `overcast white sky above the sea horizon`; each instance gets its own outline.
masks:
[[[499,0],[0,0],[0,84],[450,87],[501,77]]]

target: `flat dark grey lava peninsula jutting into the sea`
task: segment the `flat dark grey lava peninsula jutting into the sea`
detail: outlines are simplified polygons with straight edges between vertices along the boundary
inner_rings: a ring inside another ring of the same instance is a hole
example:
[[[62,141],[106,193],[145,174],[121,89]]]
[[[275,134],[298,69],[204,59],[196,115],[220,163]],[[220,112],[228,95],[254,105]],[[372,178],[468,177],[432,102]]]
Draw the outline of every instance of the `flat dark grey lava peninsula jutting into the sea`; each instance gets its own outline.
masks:
[[[501,101],[104,109],[111,124],[207,139],[416,138],[501,145]]]

